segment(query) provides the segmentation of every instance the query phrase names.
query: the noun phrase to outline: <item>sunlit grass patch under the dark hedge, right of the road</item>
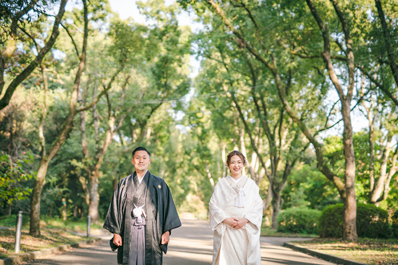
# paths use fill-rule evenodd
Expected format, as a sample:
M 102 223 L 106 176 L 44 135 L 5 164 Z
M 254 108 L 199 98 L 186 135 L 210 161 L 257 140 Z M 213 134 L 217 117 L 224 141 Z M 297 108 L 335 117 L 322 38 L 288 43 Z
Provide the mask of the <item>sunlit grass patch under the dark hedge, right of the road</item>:
M 357 242 L 314 238 L 294 244 L 370 265 L 398 265 L 398 239 L 360 238 Z

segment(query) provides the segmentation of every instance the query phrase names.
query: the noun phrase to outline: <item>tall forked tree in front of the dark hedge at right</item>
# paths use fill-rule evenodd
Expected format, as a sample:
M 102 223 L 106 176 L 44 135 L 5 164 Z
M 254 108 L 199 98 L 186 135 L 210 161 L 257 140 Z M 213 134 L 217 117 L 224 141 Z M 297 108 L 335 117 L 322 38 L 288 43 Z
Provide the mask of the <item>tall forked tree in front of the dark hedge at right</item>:
M 186 2 L 186 1 L 183 1 Z M 189 3 L 190 1 L 188 1 Z M 319 45 L 317 46 L 314 41 L 311 41 L 310 44 L 312 46 L 308 46 L 308 39 L 303 41 L 302 37 L 299 36 L 301 33 L 298 30 L 294 31 L 281 31 L 281 27 L 292 28 L 292 26 L 296 26 L 298 24 L 297 21 L 293 21 L 293 24 L 286 24 L 286 16 L 295 16 L 296 12 L 300 14 L 299 23 L 305 22 L 305 26 L 301 27 L 304 29 L 302 32 L 306 34 L 315 34 L 315 29 L 312 27 L 313 21 L 309 19 L 308 16 L 304 15 L 305 7 L 298 7 L 298 3 L 296 2 L 285 2 L 281 1 L 281 3 L 274 2 L 262 2 L 260 5 L 251 1 L 239 1 L 237 3 L 219 3 L 213 0 L 203 1 L 204 5 L 207 5 L 210 11 L 216 14 L 223 22 L 225 27 L 228 29 L 230 33 L 235 36 L 235 43 L 239 45 L 242 49 L 244 49 L 250 56 L 258 60 L 274 78 L 275 86 L 278 90 L 281 101 L 284 105 L 285 110 L 292 118 L 292 120 L 300 127 L 301 131 L 308 139 L 308 141 L 313 145 L 316 156 L 318 160 L 318 169 L 331 181 L 333 181 L 338 188 L 342 199 L 345 202 L 345 219 L 344 219 L 344 239 L 346 240 L 355 240 L 357 238 L 356 233 L 356 198 L 355 198 L 355 155 L 353 149 L 353 141 L 352 141 L 352 125 L 351 125 L 351 100 L 354 91 L 354 73 L 355 73 L 355 65 L 354 65 L 354 54 L 353 54 L 353 46 L 352 39 L 350 35 L 350 28 L 348 21 L 344 12 L 341 10 L 339 3 L 335 0 L 331 1 L 332 8 L 334 11 L 330 13 L 333 19 L 337 19 L 339 23 L 342 24 L 342 30 L 340 32 L 341 36 L 344 36 L 346 49 L 342 49 L 341 52 L 345 54 L 345 57 L 336 56 L 331 53 L 330 50 L 330 33 L 328 28 L 325 26 L 326 24 L 323 22 L 321 16 L 319 15 L 318 10 L 312 1 L 307 0 L 307 5 L 309 10 L 315 18 L 315 22 L 317 26 L 320 28 L 322 32 L 322 46 L 323 51 L 319 56 Z M 256 7 L 255 7 L 256 6 Z M 201 6 L 202 7 L 202 6 Z M 329 8 L 327 6 L 326 8 Z M 330 9 L 327 9 L 330 10 Z M 261 13 L 264 12 L 264 13 Z M 329 14 L 328 13 L 328 14 Z M 239 16 L 236 16 L 239 14 Z M 254 15 L 253 15 L 254 14 Z M 244 19 L 240 18 L 244 15 Z M 259 20 L 257 17 L 262 17 L 268 15 L 268 20 L 273 20 L 273 23 L 276 28 L 270 29 L 268 32 L 264 30 L 264 28 L 269 28 L 269 25 L 263 27 L 263 25 L 259 26 Z M 234 19 L 231 19 L 234 17 Z M 239 19 L 236 19 L 239 17 Z M 312 19 L 313 19 L 312 18 Z M 275 22 L 274 22 L 275 21 Z M 278 25 L 276 21 L 279 21 Z M 295 25 L 296 24 L 296 25 Z M 300 27 L 298 27 L 300 28 Z M 271 35 L 270 33 L 278 31 L 278 34 Z M 261 32 L 260 32 L 261 30 Z M 248 34 L 248 33 L 251 34 Z M 269 34 L 266 34 L 269 33 Z M 267 36 L 268 39 L 263 36 Z M 281 37 L 279 37 L 281 36 Z M 318 41 L 318 39 L 317 39 Z M 319 43 L 318 43 L 319 44 Z M 284 51 L 281 48 L 286 48 Z M 307 50 L 315 52 L 316 55 L 308 54 Z M 303 54 L 299 53 L 303 49 Z M 286 54 L 286 51 L 290 52 L 292 56 L 283 56 Z M 315 135 L 310 130 L 308 130 L 308 124 L 305 122 L 303 118 L 305 118 L 305 113 L 307 110 L 304 110 L 304 115 L 299 117 L 295 108 L 292 108 L 291 103 L 288 101 L 288 95 L 286 93 L 289 87 L 289 82 L 283 82 L 281 75 L 289 76 L 289 67 L 288 62 L 299 64 L 301 61 L 297 58 L 322 58 L 326 64 L 326 69 L 328 71 L 328 76 L 331 81 L 331 84 L 335 87 L 341 104 L 340 113 L 342 115 L 342 120 L 344 121 L 344 153 L 345 153 L 345 175 L 344 182 L 334 176 L 330 169 L 328 169 L 323 156 L 323 147 L 322 145 L 315 139 Z M 338 62 L 341 60 L 346 64 L 347 71 L 347 92 L 344 92 L 342 88 L 342 84 L 338 79 L 335 68 L 332 62 L 332 59 L 337 59 Z M 285 59 L 285 60 L 284 60 Z M 291 68 L 292 70 L 292 68 Z M 319 70 L 319 69 L 318 69 Z M 319 72 L 319 71 L 318 71 Z M 294 79 L 294 75 L 290 77 Z M 312 84 L 311 84 L 312 85 Z M 316 84 L 315 84 L 316 85 Z M 289 96 L 289 98 L 291 98 Z M 298 103 L 298 102 L 294 102 Z M 293 103 L 293 104 L 294 104 Z

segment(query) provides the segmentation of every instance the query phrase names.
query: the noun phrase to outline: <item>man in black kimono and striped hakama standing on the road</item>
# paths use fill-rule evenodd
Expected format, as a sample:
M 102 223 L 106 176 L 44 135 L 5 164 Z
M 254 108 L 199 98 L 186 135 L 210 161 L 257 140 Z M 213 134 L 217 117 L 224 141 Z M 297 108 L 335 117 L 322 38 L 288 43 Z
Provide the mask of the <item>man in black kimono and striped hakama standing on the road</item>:
M 151 154 L 133 151 L 135 172 L 120 180 L 113 192 L 103 228 L 113 233 L 119 265 L 162 265 L 171 230 L 181 226 L 166 182 L 148 171 Z

